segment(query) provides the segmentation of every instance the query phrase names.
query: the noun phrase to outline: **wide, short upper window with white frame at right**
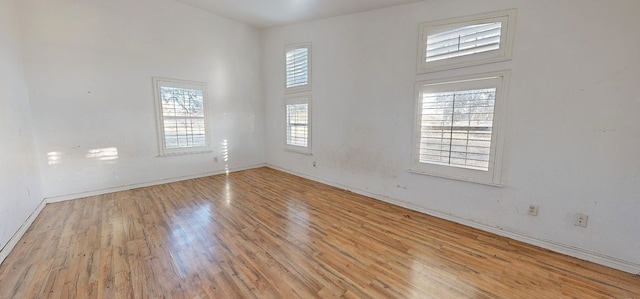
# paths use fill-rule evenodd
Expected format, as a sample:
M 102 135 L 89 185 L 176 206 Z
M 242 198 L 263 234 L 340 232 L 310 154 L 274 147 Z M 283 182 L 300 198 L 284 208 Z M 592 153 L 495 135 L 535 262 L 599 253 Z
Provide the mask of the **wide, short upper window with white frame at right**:
M 515 10 L 420 24 L 418 73 L 511 59 Z

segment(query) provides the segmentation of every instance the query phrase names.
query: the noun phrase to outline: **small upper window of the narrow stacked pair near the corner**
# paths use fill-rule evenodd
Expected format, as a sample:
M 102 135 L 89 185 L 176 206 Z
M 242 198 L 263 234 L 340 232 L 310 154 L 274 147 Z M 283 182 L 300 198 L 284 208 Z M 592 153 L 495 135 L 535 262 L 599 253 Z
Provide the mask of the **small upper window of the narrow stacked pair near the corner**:
M 311 44 L 287 46 L 286 58 L 286 91 L 299 92 L 311 90 Z

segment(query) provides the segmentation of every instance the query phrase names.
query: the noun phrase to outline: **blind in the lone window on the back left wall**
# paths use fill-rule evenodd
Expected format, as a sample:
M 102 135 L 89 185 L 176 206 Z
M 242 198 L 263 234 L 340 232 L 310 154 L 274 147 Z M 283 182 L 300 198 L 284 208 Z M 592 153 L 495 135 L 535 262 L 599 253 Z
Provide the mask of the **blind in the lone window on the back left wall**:
M 165 148 L 206 146 L 202 90 L 160 87 Z

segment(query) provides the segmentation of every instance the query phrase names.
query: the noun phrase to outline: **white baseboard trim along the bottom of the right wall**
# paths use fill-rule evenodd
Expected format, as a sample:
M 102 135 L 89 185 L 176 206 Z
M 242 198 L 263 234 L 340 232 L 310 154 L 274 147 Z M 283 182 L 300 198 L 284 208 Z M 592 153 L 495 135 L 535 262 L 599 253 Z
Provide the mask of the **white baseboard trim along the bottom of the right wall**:
M 323 184 L 327 184 L 329 186 L 333 186 L 336 188 L 340 188 L 340 189 L 344 189 L 347 191 L 351 191 L 353 193 L 357 193 L 360 195 L 364 195 L 367 197 L 371 197 L 380 201 L 384 201 L 390 204 L 394 204 L 397 206 L 401 206 L 403 208 L 407 208 L 410 210 L 414 210 L 414 211 L 418 211 L 430 216 L 434 216 L 440 219 L 444 219 L 444 220 L 448 220 L 448 221 L 452 221 L 455 223 L 459 223 L 465 226 L 469 226 L 469 227 L 473 227 L 482 231 L 486 231 L 486 232 L 490 232 L 499 236 L 503 236 L 503 237 L 507 237 L 510 239 L 514 239 L 517 241 L 521 241 L 527 244 L 531 244 L 531 245 L 535 245 L 535 246 L 539 246 L 560 254 L 564 254 L 564 255 L 568 255 L 571 257 L 575 257 L 581 260 L 586 260 L 589 262 L 593 262 L 596 264 L 600 264 L 609 268 L 613 268 L 613 269 L 617 269 L 617 270 L 621 270 L 627 273 L 631 273 L 631 274 L 636 274 L 636 275 L 640 275 L 640 264 L 631 262 L 631 261 L 626 261 L 626 260 L 621 260 L 618 258 L 614 258 L 614 257 L 610 257 L 610 256 L 606 256 L 600 253 L 596 253 L 596 252 L 591 252 L 588 250 L 584 250 L 584 249 L 580 249 L 577 247 L 573 247 L 573 246 L 569 246 L 566 244 L 562 244 L 556 241 L 551 241 L 551 240 L 542 240 L 542 239 L 537 239 L 537 238 L 533 238 L 533 237 L 529 237 L 526 235 L 522 235 L 519 233 L 515 233 L 515 232 L 510 232 L 510 231 L 506 231 L 504 229 L 498 228 L 498 227 L 493 227 L 493 226 L 489 226 L 486 224 L 482 224 L 482 223 L 478 223 L 475 221 L 471 221 L 471 220 L 467 220 L 464 218 L 460 218 L 460 217 L 456 217 L 441 211 L 436 211 L 436 210 L 431 210 L 425 207 L 421 207 L 409 202 L 405 202 L 405 201 L 401 201 L 395 198 L 391 198 L 385 195 L 380 195 L 380 194 L 376 194 L 376 193 L 372 193 L 369 191 L 364 191 L 358 188 L 352 188 L 350 186 L 346 186 L 340 183 L 336 183 L 336 182 L 331 182 L 331 181 L 327 181 L 325 179 L 322 178 L 318 178 L 318 177 L 314 177 L 314 176 L 310 176 L 310 175 L 306 175 L 306 174 L 302 174 L 293 170 L 289 170 L 289 169 L 284 169 L 282 167 L 278 167 L 275 165 L 271 165 L 268 164 L 266 165 L 267 167 L 273 168 L 273 169 L 277 169 L 286 173 L 290 173 L 293 174 L 295 176 L 299 176 L 299 177 L 303 177 L 306 179 L 310 179 L 312 181 L 316 181 L 316 182 L 320 182 Z

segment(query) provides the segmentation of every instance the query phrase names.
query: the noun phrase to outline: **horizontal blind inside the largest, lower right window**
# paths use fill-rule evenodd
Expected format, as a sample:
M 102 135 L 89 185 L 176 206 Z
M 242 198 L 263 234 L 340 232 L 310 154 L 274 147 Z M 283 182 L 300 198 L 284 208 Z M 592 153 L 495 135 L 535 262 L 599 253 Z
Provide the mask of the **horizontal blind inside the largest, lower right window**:
M 488 170 L 496 88 L 421 94 L 419 162 Z

